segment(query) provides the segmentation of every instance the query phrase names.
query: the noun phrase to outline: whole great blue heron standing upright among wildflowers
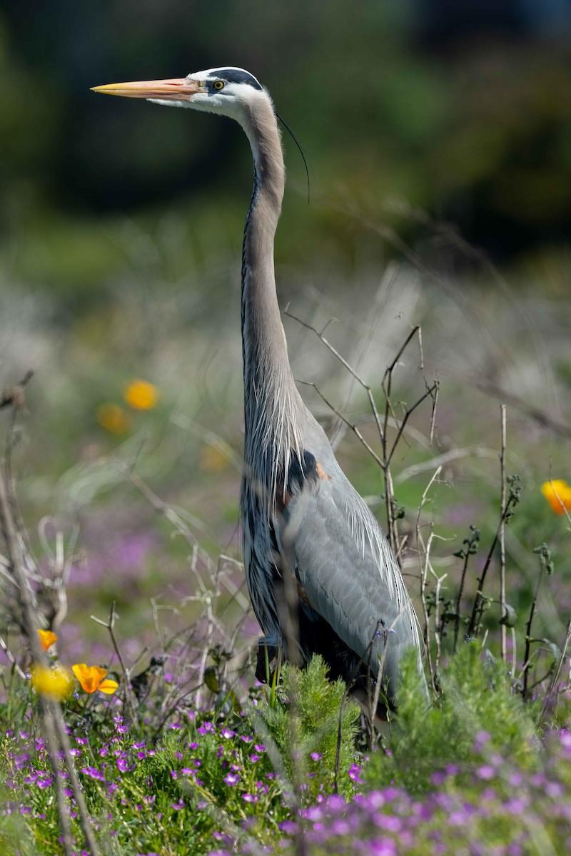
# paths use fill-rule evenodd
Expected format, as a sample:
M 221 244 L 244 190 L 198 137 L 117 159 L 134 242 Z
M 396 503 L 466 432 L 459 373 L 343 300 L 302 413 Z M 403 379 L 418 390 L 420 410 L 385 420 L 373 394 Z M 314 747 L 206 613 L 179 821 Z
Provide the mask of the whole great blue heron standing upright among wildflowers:
M 247 586 L 265 633 L 260 641 L 297 662 L 321 654 L 332 678 L 356 681 L 361 690 L 382 667 L 392 704 L 409 647 L 417 651 L 425 686 L 416 617 L 378 521 L 342 473 L 289 366 L 273 258 L 285 174 L 270 95 L 242 68 L 114 83 L 95 92 L 230 116 L 247 134 L 254 180 L 241 269 L 241 520 Z M 288 633 L 292 615 L 295 641 Z

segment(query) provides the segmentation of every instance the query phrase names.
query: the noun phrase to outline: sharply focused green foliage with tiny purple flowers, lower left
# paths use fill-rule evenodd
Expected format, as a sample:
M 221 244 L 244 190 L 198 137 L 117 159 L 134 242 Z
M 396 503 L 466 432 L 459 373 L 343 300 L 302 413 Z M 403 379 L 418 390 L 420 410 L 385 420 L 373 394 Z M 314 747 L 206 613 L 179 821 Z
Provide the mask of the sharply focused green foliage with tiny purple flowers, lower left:
M 325 671 L 320 658 L 305 671 L 283 669 L 273 703 L 262 693 L 249 711 L 227 717 L 214 710 L 175 713 L 159 734 L 146 725 L 145 709 L 128 724 L 115 700 L 82 715 L 70 698 L 65 710 L 75 764 L 87 810 L 101 840 L 111 842 L 110 853 L 207 853 L 216 836 L 241 841 L 244 823 L 247 835 L 270 841 L 291 819 L 295 802 L 312 805 L 330 794 L 344 685 L 327 681 Z M 51 765 L 29 693 L 26 682 L 13 679 L 0 704 L 0 779 L 9 806 L 0 841 L 9 853 L 25 823 L 38 847 L 60 853 Z M 348 769 L 355 721 L 355 706 L 346 700 L 338 789 L 347 797 L 354 794 Z M 72 825 L 80 841 L 76 817 Z M 22 853 L 35 853 L 32 837 Z

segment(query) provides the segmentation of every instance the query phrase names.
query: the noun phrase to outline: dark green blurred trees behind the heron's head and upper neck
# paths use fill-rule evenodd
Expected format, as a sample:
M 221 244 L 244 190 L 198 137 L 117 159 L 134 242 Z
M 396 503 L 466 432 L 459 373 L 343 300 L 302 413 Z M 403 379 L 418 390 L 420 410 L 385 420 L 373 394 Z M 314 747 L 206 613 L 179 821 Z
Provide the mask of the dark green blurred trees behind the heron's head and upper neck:
M 200 218 L 203 253 L 235 250 L 251 172 L 240 129 L 88 91 L 230 64 L 268 86 L 312 170 L 316 204 L 301 216 L 305 177 L 286 139 L 283 261 L 354 263 L 355 236 L 322 194 L 375 214 L 407 199 L 502 262 L 558 247 L 571 217 L 570 30 L 565 0 L 8 4 L 3 263 L 80 303 L 122 269 L 117 217 L 179 211 Z

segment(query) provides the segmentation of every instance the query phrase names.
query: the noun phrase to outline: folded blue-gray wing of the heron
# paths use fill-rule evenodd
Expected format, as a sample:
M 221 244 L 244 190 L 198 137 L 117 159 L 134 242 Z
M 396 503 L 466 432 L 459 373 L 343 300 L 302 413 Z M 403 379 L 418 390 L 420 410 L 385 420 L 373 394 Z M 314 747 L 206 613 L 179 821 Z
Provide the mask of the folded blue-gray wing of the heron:
M 394 687 L 403 652 L 411 646 L 420 651 L 413 605 L 377 520 L 342 473 L 317 423 L 307 439 L 317 473 L 301 484 L 284 512 L 284 556 L 310 607 L 375 674 L 383 662 Z

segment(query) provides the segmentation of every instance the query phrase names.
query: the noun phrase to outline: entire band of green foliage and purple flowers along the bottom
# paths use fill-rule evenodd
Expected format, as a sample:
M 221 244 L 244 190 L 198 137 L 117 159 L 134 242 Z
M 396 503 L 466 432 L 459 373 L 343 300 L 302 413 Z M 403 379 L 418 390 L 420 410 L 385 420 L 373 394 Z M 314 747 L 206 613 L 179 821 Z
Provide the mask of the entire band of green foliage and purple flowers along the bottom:
M 298 834 L 311 856 L 344 856 L 355 839 L 369 847 L 364 853 L 382 845 L 381 853 L 408 856 L 436 843 L 443 856 L 504 852 L 514 841 L 516 853 L 567 853 L 568 731 L 545 732 L 540 742 L 509 676 L 474 643 L 440 681 L 443 694 L 426 709 L 414 658 L 405 664 L 390 751 L 364 761 L 365 788 L 354 763 L 356 709 L 343 703 L 339 794 L 332 792 L 344 687 L 326 680 L 319 657 L 303 671 L 284 668 L 275 694 L 253 690 L 248 710 L 177 710 L 158 734 L 145 708 L 128 724 L 116 699 L 94 705 L 88 718 L 70 700 L 74 764 L 102 853 L 205 856 L 261 846 L 291 856 Z M 27 682 L 13 675 L 4 686 L 2 853 L 62 856 L 39 711 L 29 705 Z M 153 693 L 160 703 L 160 687 Z M 79 852 L 73 800 L 71 811 Z

